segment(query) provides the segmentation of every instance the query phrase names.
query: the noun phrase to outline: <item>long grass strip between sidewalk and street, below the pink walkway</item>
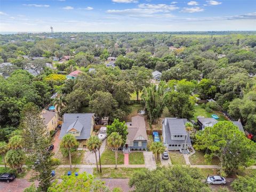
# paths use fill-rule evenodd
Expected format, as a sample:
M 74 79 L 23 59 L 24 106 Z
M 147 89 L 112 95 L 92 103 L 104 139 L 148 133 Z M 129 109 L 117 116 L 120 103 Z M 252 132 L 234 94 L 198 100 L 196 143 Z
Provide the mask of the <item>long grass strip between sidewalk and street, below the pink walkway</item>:
M 98 178 L 130 178 L 133 173 L 144 170 L 145 168 L 102 168 L 99 173 L 96 168 L 93 169 L 93 175 Z

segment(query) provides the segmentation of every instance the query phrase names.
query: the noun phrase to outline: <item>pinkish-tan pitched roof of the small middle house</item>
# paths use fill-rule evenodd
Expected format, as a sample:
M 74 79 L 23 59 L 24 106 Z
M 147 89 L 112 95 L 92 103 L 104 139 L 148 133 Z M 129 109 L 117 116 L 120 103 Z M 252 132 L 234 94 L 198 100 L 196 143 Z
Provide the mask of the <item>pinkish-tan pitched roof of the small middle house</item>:
M 132 117 L 131 124 L 127 124 L 128 126 L 128 135 L 126 142 L 134 141 L 134 140 L 146 140 L 148 141 L 147 131 L 146 131 L 146 123 L 144 117 L 139 115 Z M 139 137 L 142 137 L 141 139 Z

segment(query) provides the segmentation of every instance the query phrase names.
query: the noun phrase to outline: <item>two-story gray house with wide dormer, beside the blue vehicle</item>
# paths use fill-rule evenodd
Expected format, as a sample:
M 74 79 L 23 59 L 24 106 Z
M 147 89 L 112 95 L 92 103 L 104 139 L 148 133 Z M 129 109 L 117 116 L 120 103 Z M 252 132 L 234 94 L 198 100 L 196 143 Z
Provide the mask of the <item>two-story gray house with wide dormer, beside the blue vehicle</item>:
M 181 153 L 189 153 L 191 147 L 189 134 L 186 132 L 186 118 L 164 118 L 163 143 L 168 150 L 179 150 Z

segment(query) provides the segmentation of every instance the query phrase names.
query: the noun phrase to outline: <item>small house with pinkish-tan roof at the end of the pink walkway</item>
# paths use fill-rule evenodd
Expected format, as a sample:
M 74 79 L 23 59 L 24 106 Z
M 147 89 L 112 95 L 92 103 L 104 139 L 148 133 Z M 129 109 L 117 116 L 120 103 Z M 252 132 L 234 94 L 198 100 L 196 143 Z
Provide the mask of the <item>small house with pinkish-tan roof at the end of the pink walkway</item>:
M 128 134 L 123 147 L 124 153 L 129 153 L 131 150 L 147 150 L 148 136 L 144 117 L 134 116 L 132 122 L 126 124 Z

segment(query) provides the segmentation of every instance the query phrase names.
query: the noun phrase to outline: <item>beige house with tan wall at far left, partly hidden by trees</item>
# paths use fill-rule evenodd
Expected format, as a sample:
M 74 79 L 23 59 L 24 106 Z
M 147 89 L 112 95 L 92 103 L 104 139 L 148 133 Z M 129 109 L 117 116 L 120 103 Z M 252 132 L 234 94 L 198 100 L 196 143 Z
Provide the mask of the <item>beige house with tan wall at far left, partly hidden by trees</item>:
M 50 131 L 55 130 L 58 125 L 58 114 L 55 113 L 54 111 L 49 111 L 46 109 L 43 109 L 41 114 L 49 133 Z

